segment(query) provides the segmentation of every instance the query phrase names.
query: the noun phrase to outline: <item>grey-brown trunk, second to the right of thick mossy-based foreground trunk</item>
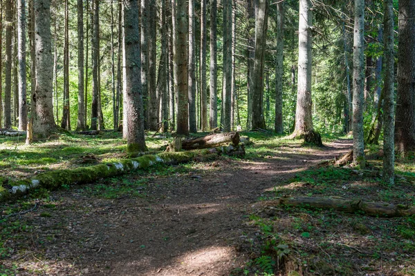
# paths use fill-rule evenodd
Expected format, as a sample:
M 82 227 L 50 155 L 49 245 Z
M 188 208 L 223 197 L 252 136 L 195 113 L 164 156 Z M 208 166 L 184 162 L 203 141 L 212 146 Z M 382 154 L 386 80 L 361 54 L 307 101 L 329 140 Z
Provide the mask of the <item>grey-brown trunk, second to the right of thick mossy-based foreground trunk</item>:
M 158 130 L 158 101 L 156 92 L 156 0 L 149 0 L 148 8 L 148 51 L 149 51 L 149 63 L 148 63 L 148 76 L 149 76 L 149 129 Z

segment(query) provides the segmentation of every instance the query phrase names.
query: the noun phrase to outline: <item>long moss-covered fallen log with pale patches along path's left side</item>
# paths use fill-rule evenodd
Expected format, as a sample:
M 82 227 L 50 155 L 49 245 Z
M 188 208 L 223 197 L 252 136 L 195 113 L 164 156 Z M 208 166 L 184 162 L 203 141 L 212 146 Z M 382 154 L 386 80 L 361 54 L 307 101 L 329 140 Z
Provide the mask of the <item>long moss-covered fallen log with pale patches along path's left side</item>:
M 36 175 L 30 179 L 12 183 L 9 182 L 5 185 L 7 187 L 0 186 L 0 202 L 16 199 L 22 195 L 26 195 L 30 192 L 30 190 L 38 187 L 54 190 L 64 185 L 91 183 L 101 178 L 122 175 L 133 170 L 148 168 L 156 163 L 180 164 L 203 155 L 232 155 L 234 152 L 239 152 L 239 155 L 242 155 L 245 150 L 242 146 L 221 146 L 209 150 L 162 152 L 158 155 L 144 155 L 137 158 L 120 159 L 118 161 L 98 164 L 95 166 L 65 170 L 51 170 L 49 172 Z

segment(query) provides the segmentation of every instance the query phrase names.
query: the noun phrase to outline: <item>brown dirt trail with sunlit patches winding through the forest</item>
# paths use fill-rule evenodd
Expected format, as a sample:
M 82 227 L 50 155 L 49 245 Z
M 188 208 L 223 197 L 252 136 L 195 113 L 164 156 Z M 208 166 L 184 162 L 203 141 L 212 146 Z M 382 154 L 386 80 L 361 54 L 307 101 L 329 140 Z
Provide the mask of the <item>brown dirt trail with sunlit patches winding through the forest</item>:
M 236 248 L 252 231 L 243 222 L 258 197 L 350 148 L 339 140 L 322 150 L 277 148 L 257 161 L 202 163 L 191 173 L 153 177 L 148 199 L 61 190 L 52 217 L 37 217 L 35 239 L 58 237 L 42 244 L 47 259 L 59 260 L 48 264 L 57 275 L 229 275 L 249 259 Z

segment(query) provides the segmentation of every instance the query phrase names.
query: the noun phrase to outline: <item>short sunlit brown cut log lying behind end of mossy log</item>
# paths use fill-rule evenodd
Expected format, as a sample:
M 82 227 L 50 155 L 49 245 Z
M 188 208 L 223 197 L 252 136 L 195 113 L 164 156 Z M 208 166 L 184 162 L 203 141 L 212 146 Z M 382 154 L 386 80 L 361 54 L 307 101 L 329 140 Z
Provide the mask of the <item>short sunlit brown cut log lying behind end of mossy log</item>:
M 183 150 L 196 150 L 201 148 L 213 148 L 225 143 L 232 143 L 234 146 L 238 146 L 239 132 L 225 132 L 183 140 L 182 148 Z

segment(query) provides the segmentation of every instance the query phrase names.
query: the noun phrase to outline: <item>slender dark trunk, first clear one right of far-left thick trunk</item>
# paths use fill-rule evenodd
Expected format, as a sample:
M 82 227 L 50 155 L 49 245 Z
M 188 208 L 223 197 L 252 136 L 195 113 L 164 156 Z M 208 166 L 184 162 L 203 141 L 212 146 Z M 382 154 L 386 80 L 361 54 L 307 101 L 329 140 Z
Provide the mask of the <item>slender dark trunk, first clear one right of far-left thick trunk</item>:
M 64 110 L 62 128 L 71 130 L 71 115 L 69 114 L 69 12 L 68 0 L 65 0 L 65 41 L 64 41 Z

